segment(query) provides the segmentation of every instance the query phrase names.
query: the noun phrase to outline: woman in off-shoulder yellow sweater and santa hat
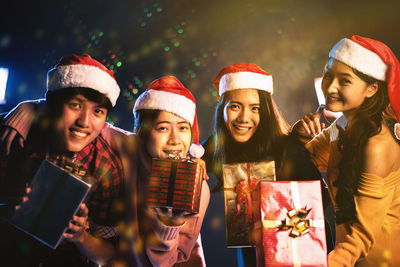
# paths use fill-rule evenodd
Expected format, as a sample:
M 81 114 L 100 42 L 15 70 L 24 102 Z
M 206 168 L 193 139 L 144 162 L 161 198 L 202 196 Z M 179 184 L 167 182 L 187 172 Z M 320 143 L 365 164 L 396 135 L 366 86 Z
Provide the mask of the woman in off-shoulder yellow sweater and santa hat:
M 400 266 L 399 61 L 382 42 L 344 38 L 329 53 L 322 89 L 326 108 L 342 111 L 347 121 L 338 119 L 306 144 L 327 173 L 335 206 L 336 247 L 328 264 Z M 321 127 L 319 116 L 305 116 L 303 127 Z

